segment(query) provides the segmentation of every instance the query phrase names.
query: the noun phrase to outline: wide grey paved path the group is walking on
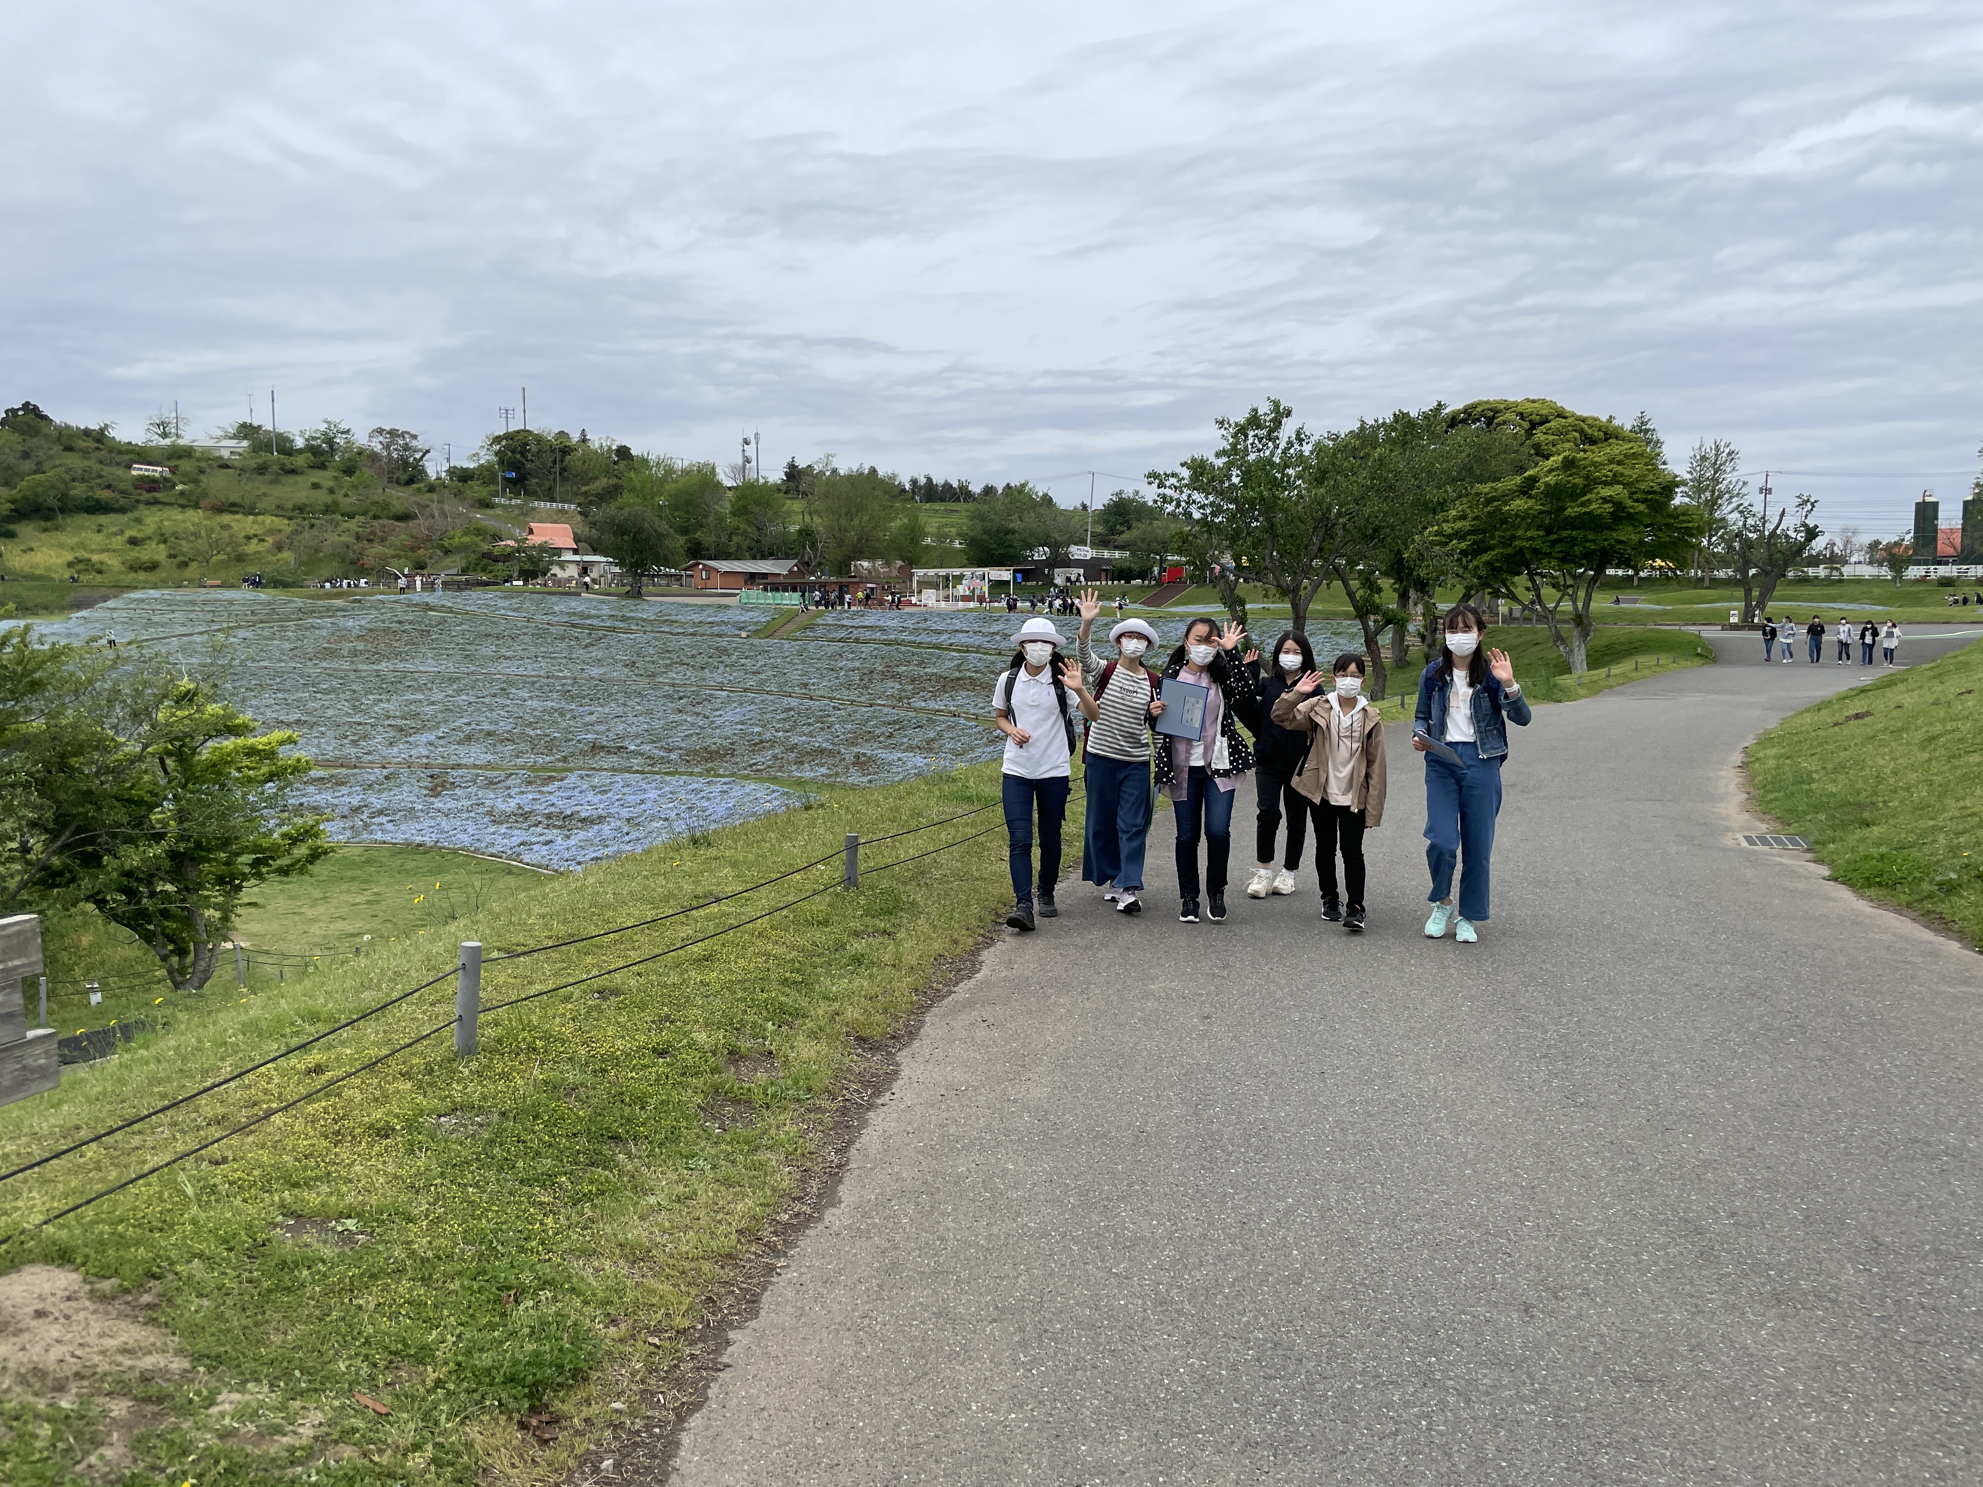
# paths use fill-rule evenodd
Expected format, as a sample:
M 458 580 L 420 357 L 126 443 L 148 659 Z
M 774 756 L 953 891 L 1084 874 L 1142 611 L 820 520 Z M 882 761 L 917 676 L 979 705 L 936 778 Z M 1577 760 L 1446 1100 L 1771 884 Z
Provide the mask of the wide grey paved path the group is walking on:
M 1396 757 L 1362 940 L 1313 878 L 1069 886 L 932 1011 L 674 1481 L 1983 1479 L 1983 962 L 1731 845 L 1741 745 L 1862 678 L 1753 650 L 1515 730 L 1475 948 L 1420 936 Z

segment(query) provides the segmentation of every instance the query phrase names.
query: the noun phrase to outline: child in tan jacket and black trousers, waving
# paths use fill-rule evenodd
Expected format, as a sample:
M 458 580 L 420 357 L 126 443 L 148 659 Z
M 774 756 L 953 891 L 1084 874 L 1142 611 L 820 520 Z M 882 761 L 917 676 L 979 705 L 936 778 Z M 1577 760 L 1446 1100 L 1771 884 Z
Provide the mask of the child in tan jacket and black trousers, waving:
M 1364 658 L 1337 656 L 1333 684 L 1305 672 L 1273 704 L 1275 724 L 1299 726 L 1309 740 L 1295 789 L 1315 801 L 1315 872 L 1323 884 L 1323 918 L 1344 930 L 1364 926 L 1362 835 L 1384 821 L 1384 722 L 1362 696 Z M 1337 892 L 1337 843 L 1342 843 L 1342 894 Z

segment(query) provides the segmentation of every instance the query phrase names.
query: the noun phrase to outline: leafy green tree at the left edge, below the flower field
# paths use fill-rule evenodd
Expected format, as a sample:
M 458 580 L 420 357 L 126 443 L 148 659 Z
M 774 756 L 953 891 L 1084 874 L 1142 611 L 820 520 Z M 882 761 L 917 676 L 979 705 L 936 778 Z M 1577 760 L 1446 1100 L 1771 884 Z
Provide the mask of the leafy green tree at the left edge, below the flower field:
M 307 872 L 325 817 L 293 809 L 309 759 L 163 660 L 0 642 L 0 783 L 14 902 L 89 904 L 175 989 L 214 973 L 246 894 Z

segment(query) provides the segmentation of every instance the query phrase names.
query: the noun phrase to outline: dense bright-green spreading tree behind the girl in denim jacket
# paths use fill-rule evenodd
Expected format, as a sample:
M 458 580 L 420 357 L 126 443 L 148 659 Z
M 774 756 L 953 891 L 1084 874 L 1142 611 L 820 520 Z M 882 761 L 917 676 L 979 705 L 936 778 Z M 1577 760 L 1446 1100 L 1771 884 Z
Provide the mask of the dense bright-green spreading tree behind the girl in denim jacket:
M 1465 553 L 1483 589 L 1533 607 L 1580 676 L 1598 583 L 1684 559 L 1705 535 L 1699 512 L 1674 500 L 1680 480 L 1646 440 L 1610 418 L 1547 399 L 1487 399 L 1448 418 L 1519 438 L 1535 462 L 1469 490 L 1432 539 Z

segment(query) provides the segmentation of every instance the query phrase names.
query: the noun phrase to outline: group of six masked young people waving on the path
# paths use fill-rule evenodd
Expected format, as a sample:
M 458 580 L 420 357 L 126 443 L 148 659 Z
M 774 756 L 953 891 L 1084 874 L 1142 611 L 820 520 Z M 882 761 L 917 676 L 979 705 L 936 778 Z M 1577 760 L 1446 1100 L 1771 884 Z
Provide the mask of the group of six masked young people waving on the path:
M 1313 827 L 1323 918 L 1362 930 L 1362 839 L 1382 823 L 1386 793 L 1382 700 L 1364 696 L 1364 656 L 1346 650 L 1325 672 L 1309 636 L 1287 630 L 1263 664 L 1257 648 L 1241 650 L 1237 625 L 1192 619 L 1168 658 L 1152 664 L 1160 640 L 1148 621 L 1116 623 L 1108 632 L 1114 654 L 1105 656 L 1093 642 L 1095 593 L 1083 593 L 1077 609 L 1075 654 L 1065 654 L 1051 619 L 1029 619 L 1013 634 L 1015 654 L 992 694 L 1005 734 L 1013 886 L 1005 922 L 1033 930 L 1059 914 L 1061 833 L 1079 753 L 1087 797 L 1081 878 L 1118 914 L 1142 912 L 1150 821 L 1162 791 L 1176 825 L 1178 918 L 1216 924 L 1227 916 L 1233 807 L 1251 773 L 1255 870 L 1245 894 L 1295 892 Z M 1444 629 L 1438 656 L 1418 678 L 1412 722 L 1412 747 L 1426 755 L 1426 934 L 1440 938 L 1452 928 L 1467 944 L 1489 910 L 1507 724 L 1527 726 L 1531 712 L 1507 654 L 1481 648 L 1487 625 L 1477 609 L 1456 605 Z M 1204 698 L 1172 688 L 1166 702 L 1166 680 L 1202 688 Z M 1194 704 L 1184 716 L 1202 702 L 1204 718 L 1190 738 L 1158 726 L 1172 702 Z

